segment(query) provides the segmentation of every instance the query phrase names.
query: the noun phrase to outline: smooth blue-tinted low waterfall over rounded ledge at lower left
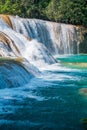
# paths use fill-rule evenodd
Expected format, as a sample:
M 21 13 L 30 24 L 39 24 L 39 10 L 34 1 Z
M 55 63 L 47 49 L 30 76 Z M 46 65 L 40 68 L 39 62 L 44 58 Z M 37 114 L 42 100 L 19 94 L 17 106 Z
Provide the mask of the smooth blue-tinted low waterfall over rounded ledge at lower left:
M 34 76 L 16 61 L 0 62 L 0 89 L 25 85 L 32 77 Z

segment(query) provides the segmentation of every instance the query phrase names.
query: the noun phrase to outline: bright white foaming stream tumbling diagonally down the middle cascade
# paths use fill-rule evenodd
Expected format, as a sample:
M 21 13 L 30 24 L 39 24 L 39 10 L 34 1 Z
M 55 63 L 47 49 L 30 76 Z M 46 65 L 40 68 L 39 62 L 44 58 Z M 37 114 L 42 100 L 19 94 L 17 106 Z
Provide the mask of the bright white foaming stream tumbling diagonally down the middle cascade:
M 36 66 L 38 65 L 39 67 L 43 64 L 55 63 L 55 60 L 42 43 L 39 43 L 36 40 L 29 41 L 23 35 L 10 29 L 4 29 L 2 32 L 9 36 L 12 41 L 14 41 L 10 42 L 10 47 L 16 56 L 22 56 L 32 64 Z M 14 45 L 19 51 L 16 50 Z

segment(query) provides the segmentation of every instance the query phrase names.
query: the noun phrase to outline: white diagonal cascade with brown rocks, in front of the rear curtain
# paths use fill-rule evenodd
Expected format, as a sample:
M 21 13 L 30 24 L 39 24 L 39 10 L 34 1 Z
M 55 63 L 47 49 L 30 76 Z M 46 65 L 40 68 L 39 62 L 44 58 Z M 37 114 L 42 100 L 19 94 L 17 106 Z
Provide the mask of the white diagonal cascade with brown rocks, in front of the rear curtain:
M 44 44 L 14 31 L 2 19 L 0 19 L 0 25 L 1 56 L 23 57 L 37 68 L 55 63 L 54 58 Z

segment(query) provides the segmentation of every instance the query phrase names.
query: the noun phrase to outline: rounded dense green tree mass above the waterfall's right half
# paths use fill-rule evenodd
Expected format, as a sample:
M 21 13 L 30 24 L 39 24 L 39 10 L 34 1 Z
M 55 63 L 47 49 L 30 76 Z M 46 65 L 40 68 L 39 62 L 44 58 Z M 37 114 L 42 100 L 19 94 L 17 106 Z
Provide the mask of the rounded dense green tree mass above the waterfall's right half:
M 51 0 L 46 15 L 49 20 L 87 26 L 87 0 Z

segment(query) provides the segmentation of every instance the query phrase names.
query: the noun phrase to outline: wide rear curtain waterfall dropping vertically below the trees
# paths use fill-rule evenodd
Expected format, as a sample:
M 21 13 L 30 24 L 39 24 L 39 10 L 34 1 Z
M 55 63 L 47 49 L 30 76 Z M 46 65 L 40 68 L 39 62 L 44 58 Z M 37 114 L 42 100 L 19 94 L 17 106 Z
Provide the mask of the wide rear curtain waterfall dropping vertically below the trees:
M 10 17 L 13 29 L 43 43 L 53 54 L 74 54 L 78 48 L 78 31 L 75 26 L 38 19 Z

